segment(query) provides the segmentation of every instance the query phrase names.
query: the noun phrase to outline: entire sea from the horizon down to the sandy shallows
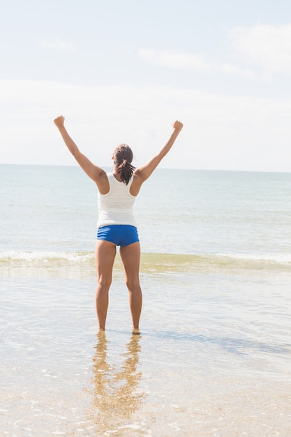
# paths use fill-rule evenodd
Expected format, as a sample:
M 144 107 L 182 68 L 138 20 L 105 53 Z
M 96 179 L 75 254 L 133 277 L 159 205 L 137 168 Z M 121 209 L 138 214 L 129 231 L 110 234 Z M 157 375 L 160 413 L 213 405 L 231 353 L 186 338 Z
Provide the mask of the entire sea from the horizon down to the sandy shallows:
M 144 297 L 95 311 L 97 190 L 0 165 L 0 435 L 291 436 L 291 174 L 158 169 L 135 202 Z

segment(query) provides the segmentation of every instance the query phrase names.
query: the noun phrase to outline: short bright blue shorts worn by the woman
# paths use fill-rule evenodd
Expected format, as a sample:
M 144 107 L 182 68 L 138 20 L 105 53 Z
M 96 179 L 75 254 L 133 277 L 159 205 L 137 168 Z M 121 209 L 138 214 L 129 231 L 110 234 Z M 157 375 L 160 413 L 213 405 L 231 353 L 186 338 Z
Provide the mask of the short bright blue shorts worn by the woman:
M 112 242 L 116 246 L 129 246 L 139 242 L 137 228 L 132 225 L 108 225 L 101 226 L 97 232 L 97 239 L 103 239 L 105 242 Z

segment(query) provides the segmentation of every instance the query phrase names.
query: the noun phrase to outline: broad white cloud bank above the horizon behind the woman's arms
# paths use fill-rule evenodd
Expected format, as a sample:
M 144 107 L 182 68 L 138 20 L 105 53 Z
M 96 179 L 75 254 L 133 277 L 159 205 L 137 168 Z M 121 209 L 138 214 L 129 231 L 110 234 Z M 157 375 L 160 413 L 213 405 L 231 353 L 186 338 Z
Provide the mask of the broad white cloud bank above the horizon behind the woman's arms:
M 171 87 L 81 86 L 0 80 L 0 161 L 74 165 L 52 120 L 66 126 L 97 165 L 120 142 L 142 165 L 181 119 L 179 142 L 161 167 L 291 171 L 291 101 Z

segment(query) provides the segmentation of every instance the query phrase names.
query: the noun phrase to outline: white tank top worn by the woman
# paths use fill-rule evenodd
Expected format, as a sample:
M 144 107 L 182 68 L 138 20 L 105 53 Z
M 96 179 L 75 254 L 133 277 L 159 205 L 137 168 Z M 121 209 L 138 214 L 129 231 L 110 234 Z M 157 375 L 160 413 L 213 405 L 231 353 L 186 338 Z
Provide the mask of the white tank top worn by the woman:
M 107 178 L 109 192 L 107 194 L 98 192 L 98 228 L 106 225 L 136 226 L 133 215 L 133 204 L 136 196 L 129 192 L 133 177 L 128 185 L 117 181 L 112 173 L 107 173 Z

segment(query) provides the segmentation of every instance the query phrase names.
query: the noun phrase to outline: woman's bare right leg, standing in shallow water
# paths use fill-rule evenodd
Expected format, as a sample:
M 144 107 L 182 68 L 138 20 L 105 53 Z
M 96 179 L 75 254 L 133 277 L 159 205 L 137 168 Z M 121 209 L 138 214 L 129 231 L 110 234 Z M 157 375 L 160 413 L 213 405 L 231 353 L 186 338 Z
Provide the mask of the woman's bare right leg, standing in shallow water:
M 129 293 L 129 305 L 133 329 L 139 328 L 142 312 L 142 290 L 140 288 L 140 243 L 129 244 L 120 248 L 120 256 L 124 265 L 124 275 Z

